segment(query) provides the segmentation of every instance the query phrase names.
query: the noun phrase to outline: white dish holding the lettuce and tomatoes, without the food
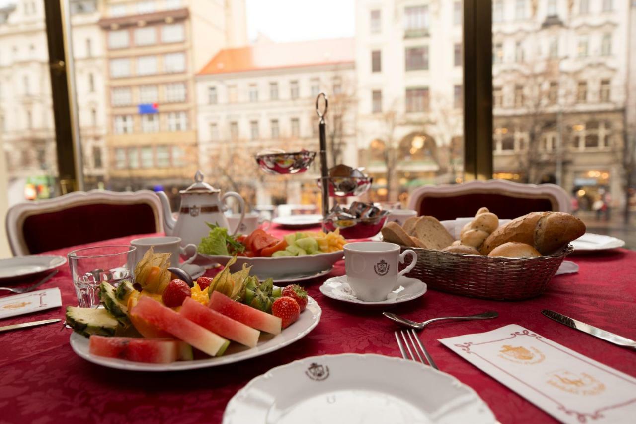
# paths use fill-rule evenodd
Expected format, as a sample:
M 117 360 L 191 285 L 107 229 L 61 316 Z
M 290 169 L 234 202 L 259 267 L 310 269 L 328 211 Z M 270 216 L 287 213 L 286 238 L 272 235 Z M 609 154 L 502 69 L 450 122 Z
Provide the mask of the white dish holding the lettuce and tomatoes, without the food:
M 238 272 L 243 269 L 243 264 L 247 264 L 248 267 L 252 267 L 249 274 L 258 277 L 258 279 L 273 278 L 275 281 L 283 281 L 297 278 L 298 276 L 314 276 L 319 272 L 329 271 L 343 256 L 343 250 L 320 253 L 319 255 L 281 256 L 277 258 L 247 258 L 239 256 L 237 261 L 230 267 L 230 271 Z M 198 257 L 210 262 L 218 262 L 221 265 L 227 264 L 232 259 L 231 256 L 213 256 L 204 255 L 203 253 L 199 253 Z

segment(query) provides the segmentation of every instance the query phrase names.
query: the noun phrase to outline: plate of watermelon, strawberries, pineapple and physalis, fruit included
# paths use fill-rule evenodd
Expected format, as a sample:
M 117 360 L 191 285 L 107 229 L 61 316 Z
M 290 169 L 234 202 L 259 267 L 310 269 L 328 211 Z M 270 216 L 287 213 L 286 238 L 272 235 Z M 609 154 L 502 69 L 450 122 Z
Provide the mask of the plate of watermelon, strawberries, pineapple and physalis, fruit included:
M 321 307 L 298 285 L 261 281 L 232 261 L 192 287 L 172 279 L 170 253 L 148 250 L 135 283 L 100 284 L 100 307 L 66 309 L 71 348 L 90 362 L 134 371 L 231 364 L 278 350 L 307 335 Z

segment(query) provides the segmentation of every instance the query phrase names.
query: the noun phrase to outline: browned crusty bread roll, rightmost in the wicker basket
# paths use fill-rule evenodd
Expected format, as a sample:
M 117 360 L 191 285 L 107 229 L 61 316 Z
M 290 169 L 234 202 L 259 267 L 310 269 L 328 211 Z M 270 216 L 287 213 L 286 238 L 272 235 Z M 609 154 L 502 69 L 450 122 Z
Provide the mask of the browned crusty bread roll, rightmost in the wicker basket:
M 565 212 L 542 216 L 534 227 L 534 247 L 543 255 L 550 255 L 570 241 L 585 234 L 583 221 Z

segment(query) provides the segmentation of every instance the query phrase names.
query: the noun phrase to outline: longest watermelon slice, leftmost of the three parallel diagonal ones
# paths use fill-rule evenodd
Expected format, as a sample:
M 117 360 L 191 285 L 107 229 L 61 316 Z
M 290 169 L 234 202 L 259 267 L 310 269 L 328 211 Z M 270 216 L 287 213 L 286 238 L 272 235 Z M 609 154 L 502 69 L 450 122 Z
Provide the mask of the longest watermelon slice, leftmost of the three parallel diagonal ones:
M 142 296 L 130 313 L 155 325 L 172 336 L 191 344 L 211 357 L 221 356 L 229 341 L 179 315 L 154 299 Z

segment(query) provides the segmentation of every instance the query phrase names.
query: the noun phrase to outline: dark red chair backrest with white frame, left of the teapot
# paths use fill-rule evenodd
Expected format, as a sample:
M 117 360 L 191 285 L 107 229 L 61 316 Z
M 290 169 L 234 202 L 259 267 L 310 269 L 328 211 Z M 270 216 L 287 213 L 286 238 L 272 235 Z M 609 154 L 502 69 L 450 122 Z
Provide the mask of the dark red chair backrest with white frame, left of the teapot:
M 6 232 L 15 256 L 162 231 L 162 205 L 149 190 L 73 192 L 19 203 L 6 215 Z

